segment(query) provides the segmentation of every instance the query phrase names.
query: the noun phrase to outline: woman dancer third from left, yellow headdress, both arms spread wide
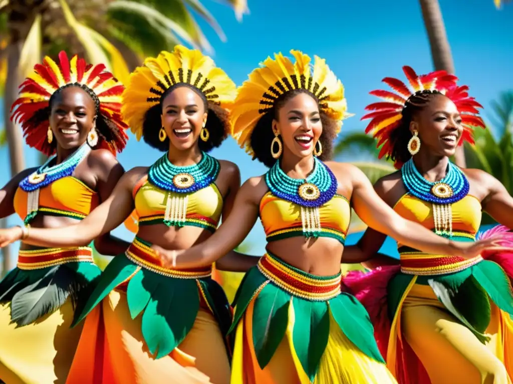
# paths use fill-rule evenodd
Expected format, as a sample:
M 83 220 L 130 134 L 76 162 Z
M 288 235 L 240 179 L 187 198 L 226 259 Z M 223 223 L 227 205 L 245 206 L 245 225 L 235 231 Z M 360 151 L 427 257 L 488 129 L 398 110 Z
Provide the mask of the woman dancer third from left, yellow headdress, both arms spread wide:
M 260 215 L 268 252 L 235 298 L 232 383 L 390 383 L 372 325 L 341 292 L 350 203 L 373 228 L 425 251 L 473 257 L 480 245 L 440 239 L 389 208 L 359 169 L 329 159 L 347 116 L 340 80 L 291 51 L 264 61 L 238 92 L 233 135 L 269 172 L 249 179 L 218 232 L 186 251 L 153 248 L 170 267 L 201 268 L 244 239 Z

